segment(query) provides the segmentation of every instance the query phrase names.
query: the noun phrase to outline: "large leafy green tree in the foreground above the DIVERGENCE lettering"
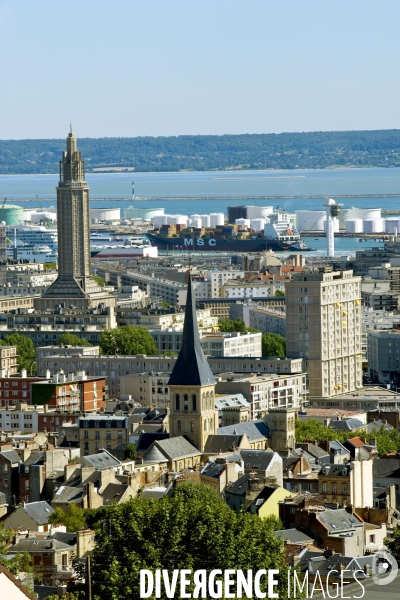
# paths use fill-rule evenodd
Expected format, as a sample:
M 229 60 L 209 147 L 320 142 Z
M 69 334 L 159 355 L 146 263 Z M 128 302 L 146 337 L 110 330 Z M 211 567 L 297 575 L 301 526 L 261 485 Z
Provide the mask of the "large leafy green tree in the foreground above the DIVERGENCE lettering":
M 283 545 L 270 524 L 256 515 L 236 514 L 208 486 L 187 482 L 172 497 L 135 498 L 96 513 L 93 592 L 102 600 L 139 599 L 141 568 L 169 573 L 278 569 L 276 591 L 281 598 L 287 596 Z

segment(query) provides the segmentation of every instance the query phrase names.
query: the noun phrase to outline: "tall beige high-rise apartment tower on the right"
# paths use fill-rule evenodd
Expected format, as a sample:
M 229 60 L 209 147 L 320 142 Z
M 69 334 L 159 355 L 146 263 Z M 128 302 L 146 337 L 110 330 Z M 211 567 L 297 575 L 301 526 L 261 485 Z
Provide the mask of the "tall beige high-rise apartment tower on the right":
M 361 319 L 353 271 L 296 274 L 286 284 L 287 354 L 304 358 L 310 397 L 362 387 Z

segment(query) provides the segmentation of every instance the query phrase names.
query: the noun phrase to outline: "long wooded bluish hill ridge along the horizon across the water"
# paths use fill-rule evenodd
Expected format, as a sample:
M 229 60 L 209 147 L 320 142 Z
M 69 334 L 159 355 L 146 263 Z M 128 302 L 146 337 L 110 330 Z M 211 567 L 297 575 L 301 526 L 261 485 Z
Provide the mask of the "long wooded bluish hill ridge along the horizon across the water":
M 400 130 L 82 138 L 86 170 L 399 167 Z M 65 140 L 0 140 L 0 173 L 57 173 Z

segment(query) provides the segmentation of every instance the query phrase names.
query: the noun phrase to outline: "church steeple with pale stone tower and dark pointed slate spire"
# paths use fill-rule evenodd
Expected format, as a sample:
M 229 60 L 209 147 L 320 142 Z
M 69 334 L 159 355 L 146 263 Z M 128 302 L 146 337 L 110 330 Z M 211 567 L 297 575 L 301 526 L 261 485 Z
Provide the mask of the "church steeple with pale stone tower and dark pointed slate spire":
M 186 436 L 203 452 L 217 428 L 215 378 L 200 345 L 192 277 L 189 274 L 182 347 L 169 378 L 171 437 Z

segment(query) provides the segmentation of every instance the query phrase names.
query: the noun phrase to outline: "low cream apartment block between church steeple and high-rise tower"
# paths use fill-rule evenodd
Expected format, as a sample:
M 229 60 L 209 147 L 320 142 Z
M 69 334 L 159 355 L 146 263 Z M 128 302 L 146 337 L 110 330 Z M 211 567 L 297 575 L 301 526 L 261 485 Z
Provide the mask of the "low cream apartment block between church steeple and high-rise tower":
M 224 373 L 217 378 L 217 394 L 243 394 L 250 404 L 251 419 L 258 419 L 272 409 L 301 409 L 306 399 L 306 376 L 235 375 Z

